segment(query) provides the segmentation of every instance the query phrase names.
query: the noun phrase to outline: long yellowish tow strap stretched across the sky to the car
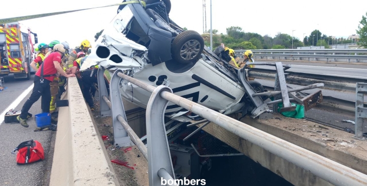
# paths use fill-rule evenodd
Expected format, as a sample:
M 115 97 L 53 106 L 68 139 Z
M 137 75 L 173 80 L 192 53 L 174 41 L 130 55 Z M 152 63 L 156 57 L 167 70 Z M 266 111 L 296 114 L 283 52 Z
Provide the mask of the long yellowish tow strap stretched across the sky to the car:
M 111 4 L 111 5 L 99 6 L 99 7 L 93 7 L 93 8 L 84 8 L 84 9 L 78 9 L 78 10 L 69 10 L 69 11 L 53 12 L 53 13 L 46 13 L 46 14 L 36 14 L 36 15 L 31 15 L 31 16 L 21 16 L 21 17 L 14 17 L 14 18 L 5 18 L 5 19 L 0 19 L 0 24 L 13 23 L 13 22 L 19 22 L 19 21 L 30 20 L 30 19 L 35 19 L 35 18 L 43 18 L 47 16 L 66 14 L 70 12 L 77 12 L 77 11 L 82 11 L 82 10 L 90 10 L 90 9 L 95 9 L 95 8 L 104 8 L 104 7 L 118 6 L 118 5 L 124 5 L 124 4 L 132 4 L 132 3 L 140 3 L 141 5 L 143 5 L 143 7 L 146 6 L 145 1 L 143 0 L 131 0 L 127 2 L 121 2 L 117 4 Z

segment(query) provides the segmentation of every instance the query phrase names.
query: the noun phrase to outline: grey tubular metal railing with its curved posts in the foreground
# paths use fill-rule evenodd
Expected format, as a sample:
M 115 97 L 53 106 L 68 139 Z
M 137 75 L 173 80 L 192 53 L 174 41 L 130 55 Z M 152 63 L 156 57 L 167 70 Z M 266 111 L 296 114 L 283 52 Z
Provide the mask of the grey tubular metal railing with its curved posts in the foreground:
M 100 114 L 101 116 L 112 115 L 115 145 L 132 145 L 131 140 L 133 140 L 138 149 L 143 153 L 148 161 L 149 186 L 159 186 L 161 184 L 160 178 L 166 180 L 175 179 L 163 120 L 168 101 L 202 116 L 207 121 L 221 126 L 240 138 L 248 140 L 306 171 L 310 171 L 331 184 L 336 186 L 367 185 L 367 175 L 361 172 L 173 94 L 169 87 L 154 87 L 145 84 L 124 74 L 121 70 L 116 70 L 112 76 L 110 82 L 111 94 L 110 99 L 108 99 L 103 72 L 103 68 L 100 68 L 98 71 L 99 96 L 101 100 Z M 146 108 L 147 147 L 141 143 L 141 140 L 138 139 L 135 132 L 126 122 L 119 94 L 119 82 L 121 79 L 152 93 Z

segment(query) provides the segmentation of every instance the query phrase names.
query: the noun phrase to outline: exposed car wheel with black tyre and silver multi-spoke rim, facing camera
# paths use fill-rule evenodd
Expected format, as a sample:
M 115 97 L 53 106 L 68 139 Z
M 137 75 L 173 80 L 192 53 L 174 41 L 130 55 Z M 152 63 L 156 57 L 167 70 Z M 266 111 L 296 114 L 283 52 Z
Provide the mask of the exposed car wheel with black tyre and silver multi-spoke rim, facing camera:
M 172 58 L 178 63 L 196 63 L 201 58 L 204 49 L 204 39 L 193 30 L 179 34 L 172 43 Z

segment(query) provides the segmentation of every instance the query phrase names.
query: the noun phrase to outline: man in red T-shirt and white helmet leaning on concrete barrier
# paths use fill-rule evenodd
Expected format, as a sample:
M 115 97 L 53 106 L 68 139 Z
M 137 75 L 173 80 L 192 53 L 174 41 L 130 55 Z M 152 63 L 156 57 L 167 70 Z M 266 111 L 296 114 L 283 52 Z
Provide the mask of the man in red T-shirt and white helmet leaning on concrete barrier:
M 42 63 L 40 70 L 36 72 L 34 77 L 34 87 L 31 96 L 24 103 L 22 113 L 17 117 L 18 121 L 23 127 L 29 127 L 27 124 L 28 111 L 41 96 L 42 102 L 45 104 L 42 107 L 44 113 L 49 113 L 49 103 L 51 101 L 50 83 L 59 72 L 65 77 L 75 77 L 74 74 L 67 74 L 61 67 L 61 58 L 65 55 L 66 47 L 57 44 L 54 46 L 54 52 L 48 55 L 44 63 Z

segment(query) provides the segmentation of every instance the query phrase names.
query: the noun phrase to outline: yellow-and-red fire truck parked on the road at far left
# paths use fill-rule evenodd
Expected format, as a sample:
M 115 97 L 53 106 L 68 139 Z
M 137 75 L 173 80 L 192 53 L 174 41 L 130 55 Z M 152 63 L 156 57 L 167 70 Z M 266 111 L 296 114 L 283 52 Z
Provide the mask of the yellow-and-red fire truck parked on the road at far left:
M 14 78 L 30 79 L 30 63 L 34 59 L 37 34 L 19 22 L 0 25 L 0 77 L 14 74 Z

